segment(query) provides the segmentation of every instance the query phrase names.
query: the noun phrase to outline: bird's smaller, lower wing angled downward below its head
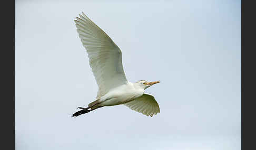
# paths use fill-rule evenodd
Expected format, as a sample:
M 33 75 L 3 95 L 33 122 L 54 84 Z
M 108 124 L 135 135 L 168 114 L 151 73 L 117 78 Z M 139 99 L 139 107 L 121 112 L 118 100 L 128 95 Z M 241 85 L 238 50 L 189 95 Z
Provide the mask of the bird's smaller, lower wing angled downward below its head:
M 153 114 L 160 113 L 159 105 L 157 104 L 155 98 L 150 94 L 144 93 L 141 97 L 124 103 L 124 105 L 147 116 L 153 116 Z

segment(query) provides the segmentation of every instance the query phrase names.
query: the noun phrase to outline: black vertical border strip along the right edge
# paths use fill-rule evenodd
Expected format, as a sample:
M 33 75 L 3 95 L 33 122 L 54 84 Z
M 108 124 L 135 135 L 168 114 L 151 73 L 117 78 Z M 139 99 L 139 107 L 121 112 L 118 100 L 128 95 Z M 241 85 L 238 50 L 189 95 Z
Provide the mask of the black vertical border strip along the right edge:
M 246 3 L 245 3 L 246 2 Z M 255 5 L 241 1 L 241 146 L 255 149 Z

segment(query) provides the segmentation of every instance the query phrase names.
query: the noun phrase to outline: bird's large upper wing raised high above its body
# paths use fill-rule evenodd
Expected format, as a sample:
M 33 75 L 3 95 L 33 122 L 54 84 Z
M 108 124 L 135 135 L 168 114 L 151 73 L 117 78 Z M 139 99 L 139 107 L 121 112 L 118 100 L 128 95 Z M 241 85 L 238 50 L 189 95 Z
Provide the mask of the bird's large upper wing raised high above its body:
M 127 83 L 122 65 L 122 52 L 83 12 L 79 16 L 80 18 L 76 17 L 75 25 L 99 87 L 98 99 L 110 89 Z

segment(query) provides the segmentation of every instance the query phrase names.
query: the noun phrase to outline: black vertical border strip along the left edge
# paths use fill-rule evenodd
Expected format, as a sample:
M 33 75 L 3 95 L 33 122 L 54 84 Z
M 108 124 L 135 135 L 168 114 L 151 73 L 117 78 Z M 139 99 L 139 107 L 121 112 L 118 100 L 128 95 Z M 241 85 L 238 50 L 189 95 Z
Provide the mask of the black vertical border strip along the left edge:
M 3 1 L 1 14 L 1 149 L 15 149 L 15 1 Z

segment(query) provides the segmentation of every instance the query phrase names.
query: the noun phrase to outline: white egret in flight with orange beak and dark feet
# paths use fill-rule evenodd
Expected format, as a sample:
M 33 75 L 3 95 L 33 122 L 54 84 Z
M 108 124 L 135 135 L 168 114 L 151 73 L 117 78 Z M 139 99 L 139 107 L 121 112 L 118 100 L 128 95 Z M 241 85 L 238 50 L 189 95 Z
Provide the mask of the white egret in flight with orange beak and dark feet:
M 82 14 L 82 15 L 81 15 Z M 88 53 L 90 67 L 99 87 L 95 101 L 86 108 L 78 107 L 72 117 L 91 112 L 104 106 L 126 105 L 128 108 L 153 116 L 160 113 L 159 104 L 145 89 L 160 81 L 139 80 L 135 83 L 126 79 L 122 52 L 114 41 L 83 12 L 76 17 L 78 36 Z

